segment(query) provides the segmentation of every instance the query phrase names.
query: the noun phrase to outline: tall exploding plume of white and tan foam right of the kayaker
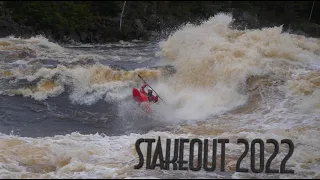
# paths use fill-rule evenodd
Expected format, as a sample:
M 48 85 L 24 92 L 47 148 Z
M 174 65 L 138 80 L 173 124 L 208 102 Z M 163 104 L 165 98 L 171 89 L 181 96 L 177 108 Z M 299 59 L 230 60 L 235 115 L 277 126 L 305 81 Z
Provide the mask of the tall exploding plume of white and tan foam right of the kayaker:
M 319 59 L 314 39 L 282 33 L 282 27 L 233 30 L 231 22 L 231 15 L 218 14 L 199 26 L 188 24 L 160 43 L 164 60 L 177 73 L 154 87 L 180 106 L 174 116 L 190 120 L 226 112 L 245 104 L 239 89 L 248 77 L 290 78 L 292 67 Z

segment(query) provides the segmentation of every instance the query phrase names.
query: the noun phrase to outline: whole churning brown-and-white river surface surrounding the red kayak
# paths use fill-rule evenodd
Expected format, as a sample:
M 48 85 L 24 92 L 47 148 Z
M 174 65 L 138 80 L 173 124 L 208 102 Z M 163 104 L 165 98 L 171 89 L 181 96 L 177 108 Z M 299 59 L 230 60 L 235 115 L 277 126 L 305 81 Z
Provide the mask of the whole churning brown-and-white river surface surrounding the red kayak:
M 8 37 L 0 51 L 1 178 L 320 177 L 319 39 L 282 27 L 236 30 L 231 15 L 218 14 L 163 42 L 62 46 Z M 154 68 L 164 64 L 176 72 Z M 138 74 L 164 100 L 152 105 L 153 118 L 132 101 Z M 134 170 L 136 140 L 158 136 L 162 144 L 230 139 L 226 172 Z M 295 174 L 235 173 L 239 138 L 291 139 L 286 168 Z M 269 158 L 273 146 L 265 146 Z M 271 168 L 287 152 L 281 145 Z M 241 166 L 250 168 L 249 156 Z

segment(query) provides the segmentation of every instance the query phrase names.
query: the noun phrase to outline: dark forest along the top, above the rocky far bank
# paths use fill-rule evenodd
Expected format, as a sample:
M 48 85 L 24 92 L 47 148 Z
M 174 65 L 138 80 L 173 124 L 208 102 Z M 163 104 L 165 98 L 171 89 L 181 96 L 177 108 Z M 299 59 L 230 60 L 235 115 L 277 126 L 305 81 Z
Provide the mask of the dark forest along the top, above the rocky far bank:
M 263 23 L 320 24 L 317 1 L 2 1 L 1 11 L 35 33 L 49 30 L 54 39 L 78 36 L 84 42 L 150 36 L 151 31 L 197 22 L 218 12 L 247 12 Z

